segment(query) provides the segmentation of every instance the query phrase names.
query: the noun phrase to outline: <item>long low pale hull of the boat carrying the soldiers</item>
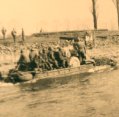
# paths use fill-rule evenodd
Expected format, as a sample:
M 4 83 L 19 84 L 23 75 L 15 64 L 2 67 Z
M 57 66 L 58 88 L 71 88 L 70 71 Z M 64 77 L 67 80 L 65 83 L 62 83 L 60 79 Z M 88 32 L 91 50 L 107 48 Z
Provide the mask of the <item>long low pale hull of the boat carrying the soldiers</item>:
M 56 79 L 61 77 L 68 77 L 76 74 L 82 73 L 92 73 L 96 71 L 104 71 L 110 69 L 110 66 L 103 66 L 103 67 L 94 67 L 93 65 L 82 65 L 80 67 L 72 67 L 72 68 L 64 68 L 64 69 L 56 69 L 52 71 L 44 71 L 44 72 L 21 72 L 16 71 L 14 73 L 9 74 L 9 79 L 13 79 L 15 82 L 19 81 L 32 81 L 32 80 L 42 80 L 42 79 Z

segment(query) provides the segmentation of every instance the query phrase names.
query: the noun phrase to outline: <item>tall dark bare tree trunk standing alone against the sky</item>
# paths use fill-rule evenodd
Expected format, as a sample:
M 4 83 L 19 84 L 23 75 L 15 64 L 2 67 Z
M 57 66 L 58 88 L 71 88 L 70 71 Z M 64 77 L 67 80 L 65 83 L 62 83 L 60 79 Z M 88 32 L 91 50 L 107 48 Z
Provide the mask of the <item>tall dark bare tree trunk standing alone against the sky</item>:
M 97 6 L 96 6 L 97 0 L 92 0 L 92 15 L 93 15 L 93 22 L 94 22 L 94 29 L 97 29 Z

